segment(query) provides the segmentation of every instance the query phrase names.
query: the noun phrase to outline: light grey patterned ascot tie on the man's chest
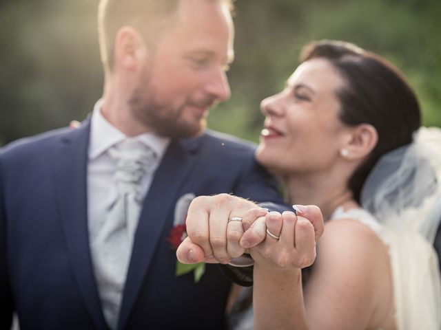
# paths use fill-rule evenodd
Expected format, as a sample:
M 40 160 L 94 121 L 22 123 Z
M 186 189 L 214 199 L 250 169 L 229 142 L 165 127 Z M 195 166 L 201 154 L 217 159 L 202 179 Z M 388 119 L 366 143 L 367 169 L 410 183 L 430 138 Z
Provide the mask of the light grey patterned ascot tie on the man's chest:
M 114 159 L 117 197 L 92 242 L 94 272 L 105 320 L 116 329 L 134 232 L 141 213 L 141 179 L 156 155 L 140 141 L 127 139 L 107 151 Z

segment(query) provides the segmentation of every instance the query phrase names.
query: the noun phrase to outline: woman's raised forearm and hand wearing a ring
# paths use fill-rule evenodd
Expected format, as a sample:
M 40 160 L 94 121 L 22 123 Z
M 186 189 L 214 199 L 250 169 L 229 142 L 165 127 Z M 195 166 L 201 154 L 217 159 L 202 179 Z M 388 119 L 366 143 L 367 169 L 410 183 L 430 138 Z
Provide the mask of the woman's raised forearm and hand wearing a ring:
M 252 248 L 255 329 L 307 329 L 300 268 L 316 256 L 314 227 L 292 212 L 269 214 L 267 236 Z

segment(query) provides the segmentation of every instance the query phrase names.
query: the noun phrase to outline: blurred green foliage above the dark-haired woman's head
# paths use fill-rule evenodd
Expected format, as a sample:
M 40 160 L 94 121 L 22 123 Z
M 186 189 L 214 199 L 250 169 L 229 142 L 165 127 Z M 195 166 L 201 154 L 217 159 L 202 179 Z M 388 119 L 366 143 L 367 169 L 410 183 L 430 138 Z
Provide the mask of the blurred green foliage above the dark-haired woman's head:
M 215 129 L 257 140 L 260 100 L 283 88 L 301 47 L 320 39 L 356 43 L 395 63 L 416 89 L 424 124 L 441 126 L 441 1 L 239 0 L 236 5 L 232 100 L 210 115 Z

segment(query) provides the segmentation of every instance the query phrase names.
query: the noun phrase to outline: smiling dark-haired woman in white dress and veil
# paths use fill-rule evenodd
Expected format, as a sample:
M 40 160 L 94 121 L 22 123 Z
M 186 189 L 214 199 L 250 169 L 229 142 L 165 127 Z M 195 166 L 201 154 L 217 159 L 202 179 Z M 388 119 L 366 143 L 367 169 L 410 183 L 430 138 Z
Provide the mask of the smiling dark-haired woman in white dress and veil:
M 250 250 L 254 329 L 439 330 L 441 137 L 420 129 L 398 70 L 349 43 L 312 43 L 261 108 L 258 162 L 289 201 L 320 207 L 325 232 L 302 274 L 298 252 L 314 233 L 302 239 L 292 214 L 267 215 L 269 233 Z

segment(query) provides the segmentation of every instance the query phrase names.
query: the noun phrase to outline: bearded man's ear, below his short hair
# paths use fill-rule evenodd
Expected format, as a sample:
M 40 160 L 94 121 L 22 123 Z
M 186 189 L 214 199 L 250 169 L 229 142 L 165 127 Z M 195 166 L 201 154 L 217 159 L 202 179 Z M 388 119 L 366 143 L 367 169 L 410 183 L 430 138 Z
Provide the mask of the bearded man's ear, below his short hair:
M 115 37 L 115 67 L 136 72 L 145 63 L 147 46 L 141 34 L 131 26 L 123 26 Z

